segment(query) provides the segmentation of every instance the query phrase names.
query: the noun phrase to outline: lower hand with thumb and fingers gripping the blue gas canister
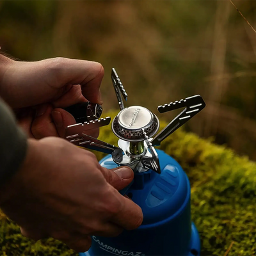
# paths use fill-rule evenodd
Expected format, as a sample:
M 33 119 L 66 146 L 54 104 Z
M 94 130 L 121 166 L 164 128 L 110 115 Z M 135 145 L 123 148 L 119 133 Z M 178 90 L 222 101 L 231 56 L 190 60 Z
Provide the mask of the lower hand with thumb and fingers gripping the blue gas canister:
M 51 236 L 84 252 L 91 235 L 117 236 L 141 225 L 140 207 L 118 192 L 133 175 L 125 166 L 103 168 L 61 138 L 29 139 L 22 168 L 1 188 L 0 207 L 24 236 Z

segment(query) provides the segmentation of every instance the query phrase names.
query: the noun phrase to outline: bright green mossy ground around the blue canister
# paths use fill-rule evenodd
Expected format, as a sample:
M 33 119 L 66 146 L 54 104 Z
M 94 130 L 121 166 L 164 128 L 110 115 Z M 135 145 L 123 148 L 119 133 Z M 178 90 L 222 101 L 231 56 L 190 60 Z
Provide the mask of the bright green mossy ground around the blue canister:
M 112 118 L 114 113 L 108 113 Z M 163 127 L 165 124 L 161 122 Z M 110 127 L 100 140 L 116 144 Z M 191 214 L 202 241 L 202 256 L 256 255 L 256 164 L 195 134 L 174 132 L 161 145 L 191 182 Z M 99 159 L 102 154 L 97 154 Z M 0 212 L 0 255 L 77 255 L 54 239 L 33 242 Z

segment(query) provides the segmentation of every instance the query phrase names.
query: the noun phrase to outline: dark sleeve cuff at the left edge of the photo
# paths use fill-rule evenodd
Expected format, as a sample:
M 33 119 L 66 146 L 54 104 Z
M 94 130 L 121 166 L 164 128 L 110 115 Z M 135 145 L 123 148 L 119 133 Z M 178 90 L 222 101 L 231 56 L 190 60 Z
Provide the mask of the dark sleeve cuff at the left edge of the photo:
M 0 186 L 19 169 L 26 157 L 26 150 L 26 135 L 0 98 Z

